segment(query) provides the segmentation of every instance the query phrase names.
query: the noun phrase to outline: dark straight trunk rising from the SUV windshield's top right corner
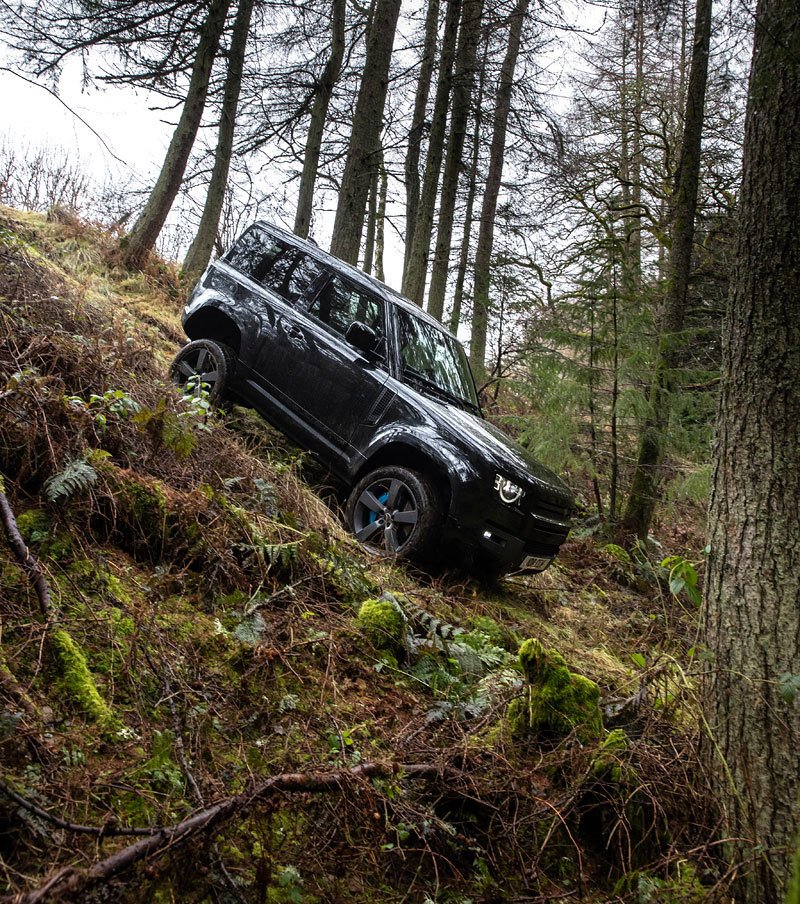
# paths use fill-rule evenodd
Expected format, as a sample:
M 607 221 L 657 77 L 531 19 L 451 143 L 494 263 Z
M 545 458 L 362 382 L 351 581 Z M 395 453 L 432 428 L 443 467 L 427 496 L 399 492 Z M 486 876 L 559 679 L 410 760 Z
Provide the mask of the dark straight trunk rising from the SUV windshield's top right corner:
M 450 267 L 450 246 L 453 241 L 453 217 L 456 209 L 458 176 L 461 171 L 464 143 L 467 136 L 469 106 L 472 100 L 472 83 L 475 76 L 475 57 L 480 39 L 483 0 L 464 0 L 461 9 L 461 34 L 458 39 L 456 66 L 453 75 L 453 112 L 450 117 L 450 134 L 447 138 L 442 193 L 439 201 L 439 226 L 436 232 L 436 249 L 431 268 L 431 285 L 428 291 L 428 313 L 437 320 L 444 313 L 444 294 Z

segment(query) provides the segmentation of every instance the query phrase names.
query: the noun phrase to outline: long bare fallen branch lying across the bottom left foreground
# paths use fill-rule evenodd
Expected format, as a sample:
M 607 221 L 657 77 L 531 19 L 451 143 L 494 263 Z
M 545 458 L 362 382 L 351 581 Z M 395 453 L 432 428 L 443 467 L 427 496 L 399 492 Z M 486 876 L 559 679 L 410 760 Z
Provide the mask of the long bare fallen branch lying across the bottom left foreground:
M 88 888 L 113 879 L 142 860 L 160 857 L 200 834 L 212 835 L 233 816 L 247 816 L 258 804 L 277 794 L 335 792 L 357 780 L 389 776 L 429 781 L 462 778 L 462 774 L 453 769 L 426 764 L 400 765 L 398 763 L 363 763 L 353 766 L 351 769 L 340 769 L 336 772 L 290 772 L 272 776 L 256 784 L 249 791 L 205 807 L 175 825 L 165 826 L 157 834 L 142 838 L 140 841 L 122 848 L 86 870 L 67 867 L 33 891 L 13 898 L 0 898 L 0 904 L 2 902 L 41 904 L 44 901 L 80 900 Z

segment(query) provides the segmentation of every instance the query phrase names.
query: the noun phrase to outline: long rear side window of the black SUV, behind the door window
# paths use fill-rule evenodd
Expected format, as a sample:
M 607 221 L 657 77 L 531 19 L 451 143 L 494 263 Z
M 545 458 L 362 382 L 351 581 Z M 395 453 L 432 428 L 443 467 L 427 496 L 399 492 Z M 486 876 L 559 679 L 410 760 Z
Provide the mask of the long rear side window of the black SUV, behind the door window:
M 295 304 L 308 292 L 321 273 L 320 264 L 303 251 L 292 248 L 254 226 L 228 254 L 228 263 Z

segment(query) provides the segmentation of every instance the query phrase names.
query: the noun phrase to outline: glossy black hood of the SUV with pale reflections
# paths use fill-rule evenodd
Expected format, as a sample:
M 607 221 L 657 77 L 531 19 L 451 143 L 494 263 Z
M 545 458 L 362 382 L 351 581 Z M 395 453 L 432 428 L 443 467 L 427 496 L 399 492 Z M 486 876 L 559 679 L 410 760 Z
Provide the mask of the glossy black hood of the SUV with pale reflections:
M 572 504 L 572 493 L 561 478 L 494 424 L 456 405 L 440 402 L 429 396 L 426 396 L 425 401 L 436 420 L 443 421 L 460 443 L 480 451 L 498 472 L 512 480 L 533 483 L 543 490 L 549 490 L 559 501 Z

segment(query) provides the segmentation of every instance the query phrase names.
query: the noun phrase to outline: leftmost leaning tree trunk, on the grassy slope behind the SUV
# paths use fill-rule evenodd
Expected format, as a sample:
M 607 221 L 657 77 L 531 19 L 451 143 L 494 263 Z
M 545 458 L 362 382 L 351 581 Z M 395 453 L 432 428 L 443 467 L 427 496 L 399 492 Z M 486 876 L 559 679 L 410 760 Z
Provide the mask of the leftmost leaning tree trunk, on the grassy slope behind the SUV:
M 172 135 L 158 180 L 150 192 L 144 210 L 126 236 L 123 257 L 129 267 L 141 267 L 156 243 L 164 222 L 181 187 L 186 164 L 203 118 L 208 83 L 231 0 L 213 0 L 200 32 L 189 90 L 178 125 Z

